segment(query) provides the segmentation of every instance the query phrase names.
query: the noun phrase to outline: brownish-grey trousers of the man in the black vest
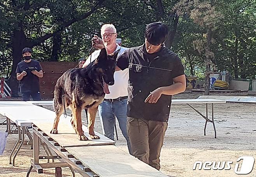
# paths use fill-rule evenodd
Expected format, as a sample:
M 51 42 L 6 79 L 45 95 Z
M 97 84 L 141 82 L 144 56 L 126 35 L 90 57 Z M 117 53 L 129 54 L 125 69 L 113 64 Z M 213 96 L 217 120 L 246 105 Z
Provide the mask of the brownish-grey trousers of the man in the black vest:
M 127 118 L 133 156 L 157 170 L 160 170 L 159 157 L 167 125 L 167 122 Z

